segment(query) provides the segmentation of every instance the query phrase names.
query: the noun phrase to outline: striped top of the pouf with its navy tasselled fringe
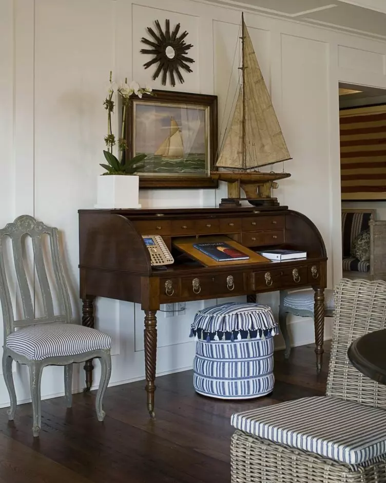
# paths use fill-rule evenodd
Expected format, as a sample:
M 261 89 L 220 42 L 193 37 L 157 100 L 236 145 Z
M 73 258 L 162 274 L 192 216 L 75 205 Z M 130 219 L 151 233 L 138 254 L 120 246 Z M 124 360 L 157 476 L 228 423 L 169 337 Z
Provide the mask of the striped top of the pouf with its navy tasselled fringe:
M 276 335 L 277 323 L 271 307 L 231 302 L 199 310 L 190 336 L 200 340 L 260 339 Z

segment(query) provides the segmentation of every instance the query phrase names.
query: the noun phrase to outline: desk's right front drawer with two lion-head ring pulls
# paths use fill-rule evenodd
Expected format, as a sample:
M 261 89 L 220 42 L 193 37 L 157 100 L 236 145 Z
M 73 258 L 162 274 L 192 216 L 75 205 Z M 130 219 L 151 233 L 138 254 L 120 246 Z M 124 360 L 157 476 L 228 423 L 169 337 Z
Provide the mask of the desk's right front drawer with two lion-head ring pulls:
M 307 285 L 308 283 L 307 266 L 304 265 L 282 270 L 274 268 L 273 270 L 253 273 L 254 290 L 266 288 L 280 290 Z

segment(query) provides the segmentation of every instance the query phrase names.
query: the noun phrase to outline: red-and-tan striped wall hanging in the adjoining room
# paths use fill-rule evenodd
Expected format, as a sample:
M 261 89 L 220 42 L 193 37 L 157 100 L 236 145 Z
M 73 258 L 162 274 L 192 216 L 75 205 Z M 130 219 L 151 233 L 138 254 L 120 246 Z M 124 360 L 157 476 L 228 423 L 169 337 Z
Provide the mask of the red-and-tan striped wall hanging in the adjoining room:
M 386 105 L 340 111 L 342 199 L 386 199 Z

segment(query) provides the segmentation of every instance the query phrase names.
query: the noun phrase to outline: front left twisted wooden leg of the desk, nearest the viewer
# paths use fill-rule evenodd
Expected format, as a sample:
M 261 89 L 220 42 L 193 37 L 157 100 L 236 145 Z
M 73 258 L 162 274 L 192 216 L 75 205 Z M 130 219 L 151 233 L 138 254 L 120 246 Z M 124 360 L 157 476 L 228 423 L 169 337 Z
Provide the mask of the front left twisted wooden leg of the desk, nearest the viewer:
M 157 365 L 157 317 L 156 310 L 145 310 L 145 373 L 147 409 L 153 418 L 154 392 L 156 391 L 156 365 Z

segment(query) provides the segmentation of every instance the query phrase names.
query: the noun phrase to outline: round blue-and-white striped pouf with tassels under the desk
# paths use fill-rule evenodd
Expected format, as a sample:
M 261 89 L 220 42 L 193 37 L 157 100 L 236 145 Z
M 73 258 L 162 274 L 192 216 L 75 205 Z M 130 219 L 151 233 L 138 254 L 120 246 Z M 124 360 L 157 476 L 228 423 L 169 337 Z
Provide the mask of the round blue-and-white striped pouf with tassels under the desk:
M 274 388 L 278 326 L 267 305 L 228 303 L 199 310 L 190 336 L 197 340 L 193 385 L 221 399 L 264 396 Z

